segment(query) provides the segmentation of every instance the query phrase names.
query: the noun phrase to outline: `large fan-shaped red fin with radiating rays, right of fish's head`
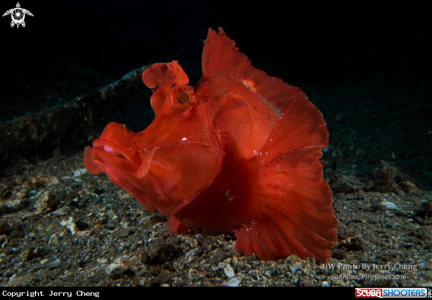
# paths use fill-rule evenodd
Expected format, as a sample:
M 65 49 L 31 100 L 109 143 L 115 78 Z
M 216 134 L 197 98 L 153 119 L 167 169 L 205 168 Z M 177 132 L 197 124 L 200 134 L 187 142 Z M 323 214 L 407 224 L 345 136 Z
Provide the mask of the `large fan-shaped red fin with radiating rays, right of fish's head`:
M 232 191 L 248 190 L 251 199 L 247 221 L 236 232 L 238 252 L 327 261 L 337 225 L 318 160 L 327 144 L 318 109 L 306 97 L 291 97 L 260 153 L 231 185 Z

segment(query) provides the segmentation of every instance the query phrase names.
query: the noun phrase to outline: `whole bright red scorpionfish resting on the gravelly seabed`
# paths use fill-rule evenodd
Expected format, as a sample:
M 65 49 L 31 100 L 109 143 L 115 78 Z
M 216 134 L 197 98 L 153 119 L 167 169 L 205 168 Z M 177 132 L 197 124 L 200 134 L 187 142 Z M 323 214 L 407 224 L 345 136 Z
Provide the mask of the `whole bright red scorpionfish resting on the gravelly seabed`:
M 238 252 L 327 261 L 337 220 L 319 162 L 321 113 L 254 68 L 222 28 L 204 42 L 200 82 L 189 86 L 176 61 L 147 68 L 154 121 L 140 133 L 108 124 L 85 149 L 86 168 L 170 216 L 173 233 L 232 232 Z

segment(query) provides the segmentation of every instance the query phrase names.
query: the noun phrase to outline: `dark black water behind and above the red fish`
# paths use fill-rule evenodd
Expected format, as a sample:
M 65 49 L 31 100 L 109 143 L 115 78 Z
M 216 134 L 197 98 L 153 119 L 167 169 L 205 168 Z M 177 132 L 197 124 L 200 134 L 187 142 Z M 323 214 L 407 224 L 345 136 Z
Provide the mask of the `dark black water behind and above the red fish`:
M 223 27 L 255 67 L 299 86 L 318 106 L 330 132 L 329 165 L 367 175 L 384 159 L 422 188 L 432 186 L 432 49 L 420 2 L 20 4 L 34 14 L 25 28 L 0 18 L 0 122 L 63 105 L 146 64 L 177 60 L 195 84 L 207 30 Z M 15 5 L 3 1 L 0 11 Z M 142 130 L 151 122 L 149 103 L 109 121 Z

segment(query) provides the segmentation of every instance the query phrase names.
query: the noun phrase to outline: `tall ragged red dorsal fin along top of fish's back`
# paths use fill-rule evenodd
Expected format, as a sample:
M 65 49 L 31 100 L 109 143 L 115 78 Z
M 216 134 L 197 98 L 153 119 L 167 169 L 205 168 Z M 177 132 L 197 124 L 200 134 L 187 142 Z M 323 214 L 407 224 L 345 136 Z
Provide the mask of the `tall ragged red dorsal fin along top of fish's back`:
M 222 75 L 253 82 L 257 94 L 266 103 L 275 107 L 278 114 L 285 110 L 292 96 L 305 96 L 299 88 L 287 85 L 282 79 L 254 68 L 247 56 L 239 51 L 236 43 L 225 35 L 222 28 L 219 28 L 219 33 L 209 28 L 204 42 L 203 77 Z

